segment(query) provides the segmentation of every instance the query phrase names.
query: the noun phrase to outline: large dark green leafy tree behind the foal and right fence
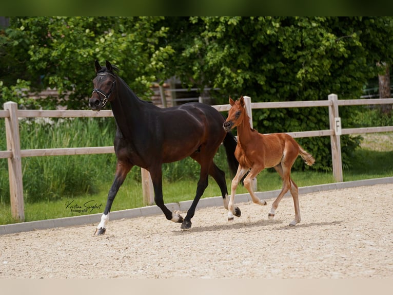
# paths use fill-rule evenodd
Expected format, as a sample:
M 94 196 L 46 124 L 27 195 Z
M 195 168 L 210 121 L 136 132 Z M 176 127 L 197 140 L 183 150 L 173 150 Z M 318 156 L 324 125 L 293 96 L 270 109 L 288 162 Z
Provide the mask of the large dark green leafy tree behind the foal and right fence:
M 166 21 L 166 20 L 165 20 Z M 215 103 L 228 96 L 253 101 L 325 100 L 331 93 L 356 99 L 376 62 L 391 63 L 391 17 L 190 17 L 177 20 L 168 36 L 182 49 L 171 68 L 186 85 L 220 88 Z M 189 29 L 191 27 L 191 29 Z M 172 31 L 174 33 L 172 33 Z M 378 47 L 377 47 L 378 46 Z M 340 111 L 350 124 L 348 110 Z M 328 129 L 327 108 L 253 112 L 262 133 Z M 331 166 L 329 138 L 299 140 L 316 156 L 316 169 Z M 359 144 L 343 137 L 343 162 Z M 300 163 L 298 167 L 301 167 Z

